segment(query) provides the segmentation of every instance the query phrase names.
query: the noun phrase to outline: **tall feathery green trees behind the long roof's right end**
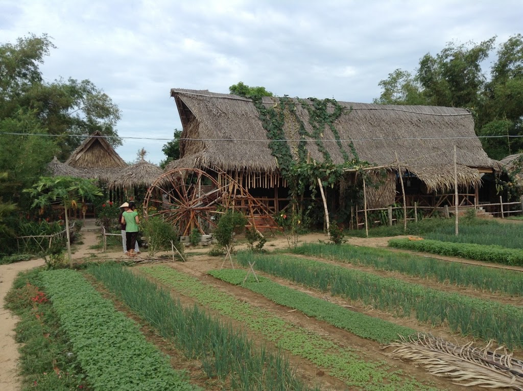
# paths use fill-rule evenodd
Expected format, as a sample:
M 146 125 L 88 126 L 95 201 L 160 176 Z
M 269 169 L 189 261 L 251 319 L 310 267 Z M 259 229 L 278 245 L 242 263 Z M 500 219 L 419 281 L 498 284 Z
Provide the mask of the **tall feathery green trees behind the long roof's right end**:
M 510 138 L 523 135 L 523 37 L 499 45 L 487 80 L 481 65 L 494 44 L 495 37 L 479 44 L 450 42 L 436 56 L 427 53 L 414 75 L 397 69 L 380 81 L 382 93 L 374 103 L 468 108 L 491 158 L 515 153 L 523 149 L 523 140 Z

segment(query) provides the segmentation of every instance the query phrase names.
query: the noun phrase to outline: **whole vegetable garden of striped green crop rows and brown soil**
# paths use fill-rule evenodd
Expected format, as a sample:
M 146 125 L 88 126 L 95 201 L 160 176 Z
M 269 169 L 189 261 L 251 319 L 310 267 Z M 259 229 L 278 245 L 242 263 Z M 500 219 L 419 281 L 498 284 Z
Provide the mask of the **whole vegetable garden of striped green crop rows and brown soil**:
M 475 365 L 461 371 L 468 381 L 446 369 L 450 364 L 441 358 L 438 371 L 449 379 L 389 355 L 396 349 L 403 359 L 436 356 L 437 348 L 427 353 L 433 341 L 457 343 L 460 352 L 468 352 L 469 342 L 490 349 L 492 340 L 491 350 L 503 345 L 521 356 L 523 273 L 347 244 L 253 249 L 233 256 L 239 267 L 234 270 L 229 263 L 219 269 L 222 258 L 189 252 L 187 262 L 134 267 L 91 262 L 81 270 L 37 270 L 20 277 L 10 293 L 13 303 L 27 296 L 19 340 L 32 346 L 29 329 L 43 336 L 37 345 L 50 343 L 49 334 L 63 338 L 61 348 L 41 354 L 49 367 L 25 370 L 26 388 L 370 391 L 465 389 L 463 384 L 474 382 L 522 387 L 519 361 L 507 358 L 505 348 L 489 360 L 513 363 L 508 375 L 490 376 Z M 246 278 L 249 265 L 258 281 L 252 273 Z M 61 333 L 50 332 L 51 325 Z M 144 337 L 140 326 L 157 338 Z M 43 345 L 25 349 L 45 351 Z M 169 361 L 166 351 L 176 352 L 177 360 Z M 175 362 L 191 364 L 179 368 Z

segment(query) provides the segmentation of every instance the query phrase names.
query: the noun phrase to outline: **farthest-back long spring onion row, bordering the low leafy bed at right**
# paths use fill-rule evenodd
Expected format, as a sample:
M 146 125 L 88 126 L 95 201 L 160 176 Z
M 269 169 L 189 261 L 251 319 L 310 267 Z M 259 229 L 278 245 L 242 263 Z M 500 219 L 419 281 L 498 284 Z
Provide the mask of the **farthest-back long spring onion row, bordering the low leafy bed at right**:
M 292 252 L 335 259 L 355 265 L 373 266 L 380 270 L 397 271 L 423 278 L 436 278 L 439 282 L 448 281 L 450 284 L 473 286 L 491 292 L 523 296 L 523 273 L 492 270 L 484 266 L 447 262 L 407 253 L 397 254 L 386 249 L 352 245 L 304 243 L 300 247 L 292 249 Z

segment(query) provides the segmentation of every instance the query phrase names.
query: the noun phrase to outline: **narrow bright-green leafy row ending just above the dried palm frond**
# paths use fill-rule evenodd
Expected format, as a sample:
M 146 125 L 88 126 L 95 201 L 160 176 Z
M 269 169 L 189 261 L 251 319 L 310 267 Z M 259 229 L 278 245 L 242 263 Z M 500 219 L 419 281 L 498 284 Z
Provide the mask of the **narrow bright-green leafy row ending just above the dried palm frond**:
M 246 272 L 244 270 L 222 269 L 211 270 L 209 274 L 230 284 L 241 285 Z M 258 278 L 259 283 L 254 280 L 254 277 L 251 277 L 242 286 L 265 296 L 277 304 L 298 309 L 307 316 L 350 331 L 358 337 L 381 343 L 390 343 L 397 340 L 399 335 L 407 337 L 416 333 L 413 329 L 398 326 L 379 318 L 372 318 L 356 311 L 350 311 L 326 300 L 279 285 L 268 278 Z

